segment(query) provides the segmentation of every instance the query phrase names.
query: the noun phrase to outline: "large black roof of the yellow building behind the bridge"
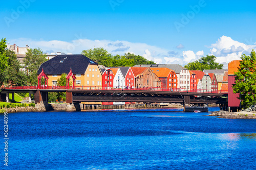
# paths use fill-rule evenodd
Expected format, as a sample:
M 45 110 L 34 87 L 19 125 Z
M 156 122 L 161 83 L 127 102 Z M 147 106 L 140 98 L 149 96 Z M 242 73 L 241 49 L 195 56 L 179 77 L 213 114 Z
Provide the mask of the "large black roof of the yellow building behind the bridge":
M 37 74 L 40 74 L 42 68 L 44 68 L 47 75 L 61 75 L 64 72 L 68 74 L 70 68 L 72 68 L 73 74 L 84 74 L 89 64 L 97 65 L 95 61 L 81 54 L 57 55 L 42 63 L 37 70 Z

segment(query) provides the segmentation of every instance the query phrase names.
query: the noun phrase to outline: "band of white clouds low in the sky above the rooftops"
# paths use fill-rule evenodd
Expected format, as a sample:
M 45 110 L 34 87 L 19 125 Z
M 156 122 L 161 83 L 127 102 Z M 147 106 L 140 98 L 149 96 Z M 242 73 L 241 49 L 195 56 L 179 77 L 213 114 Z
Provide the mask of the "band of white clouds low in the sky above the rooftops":
M 136 43 L 129 41 L 110 41 L 110 40 L 90 40 L 83 38 L 81 35 L 75 35 L 75 39 L 67 41 L 45 41 L 45 40 L 32 40 L 29 38 L 18 38 L 8 40 L 10 44 L 17 44 L 22 47 L 26 44 L 32 44 L 32 48 L 41 48 L 44 52 L 62 52 L 66 54 L 80 54 L 83 50 L 88 50 L 93 47 L 103 47 L 109 53 L 116 55 L 123 55 L 125 53 L 132 53 L 140 55 L 148 60 L 155 61 L 156 63 L 163 64 L 180 64 L 185 65 L 188 62 L 193 62 L 204 56 L 204 51 L 194 52 L 192 50 L 183 51 L 182 54 L 172 49 L 164 49 L 146 43 Z M 182 47 L 180 44 L 177 47 Z M 251 43 L 247 45 L 230 37 L 222 36 L 218 41 L 209 46 L 209 55 L 215 55 L 217 62 L 230 62 L 234 59 L 240 59 L 242 54 L 249 55 L 251 50 L 256 45 Z

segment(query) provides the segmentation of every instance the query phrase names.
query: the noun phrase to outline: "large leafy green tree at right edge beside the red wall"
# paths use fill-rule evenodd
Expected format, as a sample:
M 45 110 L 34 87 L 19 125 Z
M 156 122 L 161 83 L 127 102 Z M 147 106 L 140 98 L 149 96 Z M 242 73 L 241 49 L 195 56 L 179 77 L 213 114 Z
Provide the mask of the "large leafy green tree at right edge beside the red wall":
M 241 104 L 244 108 L 256 104 L 256 56 L 252 50 L 249 56 L 242 55 L 242 61 L 236 75 L 236 84 L 233 84 L 233 92 L 240 93 Z

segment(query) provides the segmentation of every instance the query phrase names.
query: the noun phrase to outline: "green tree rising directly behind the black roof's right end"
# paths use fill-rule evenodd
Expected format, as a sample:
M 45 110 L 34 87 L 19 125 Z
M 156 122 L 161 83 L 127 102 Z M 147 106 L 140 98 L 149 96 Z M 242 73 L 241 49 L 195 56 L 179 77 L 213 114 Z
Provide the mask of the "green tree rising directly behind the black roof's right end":
M 83 50 L 82 55 L 90 58 L 91 60 L 97 62 L 100 65 L 111 67 L 113 66 L 113 57 L 112 54 L 110 54 L 108 51 L 106 51 L 102 47 L 98 48 L 91 48 L 89 50 Z

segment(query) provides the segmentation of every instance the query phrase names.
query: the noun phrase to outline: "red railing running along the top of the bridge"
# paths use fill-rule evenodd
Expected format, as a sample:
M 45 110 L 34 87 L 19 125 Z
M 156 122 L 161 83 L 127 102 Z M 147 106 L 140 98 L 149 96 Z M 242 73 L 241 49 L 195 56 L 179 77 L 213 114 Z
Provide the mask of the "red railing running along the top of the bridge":
M 73 89 L 73 90 L 146 90 L 146 91 L 174 91 L 174 92 L 194 92 L 194 93 L 228 93 L 227 90 L 206 90 L 206 89 L 185 89 L 185 88 L 162 88 L 162 87 L 85 87 L 85 86 L 72 86 L 67 88 L 66 86 L 1 86 L 1 89 Z

